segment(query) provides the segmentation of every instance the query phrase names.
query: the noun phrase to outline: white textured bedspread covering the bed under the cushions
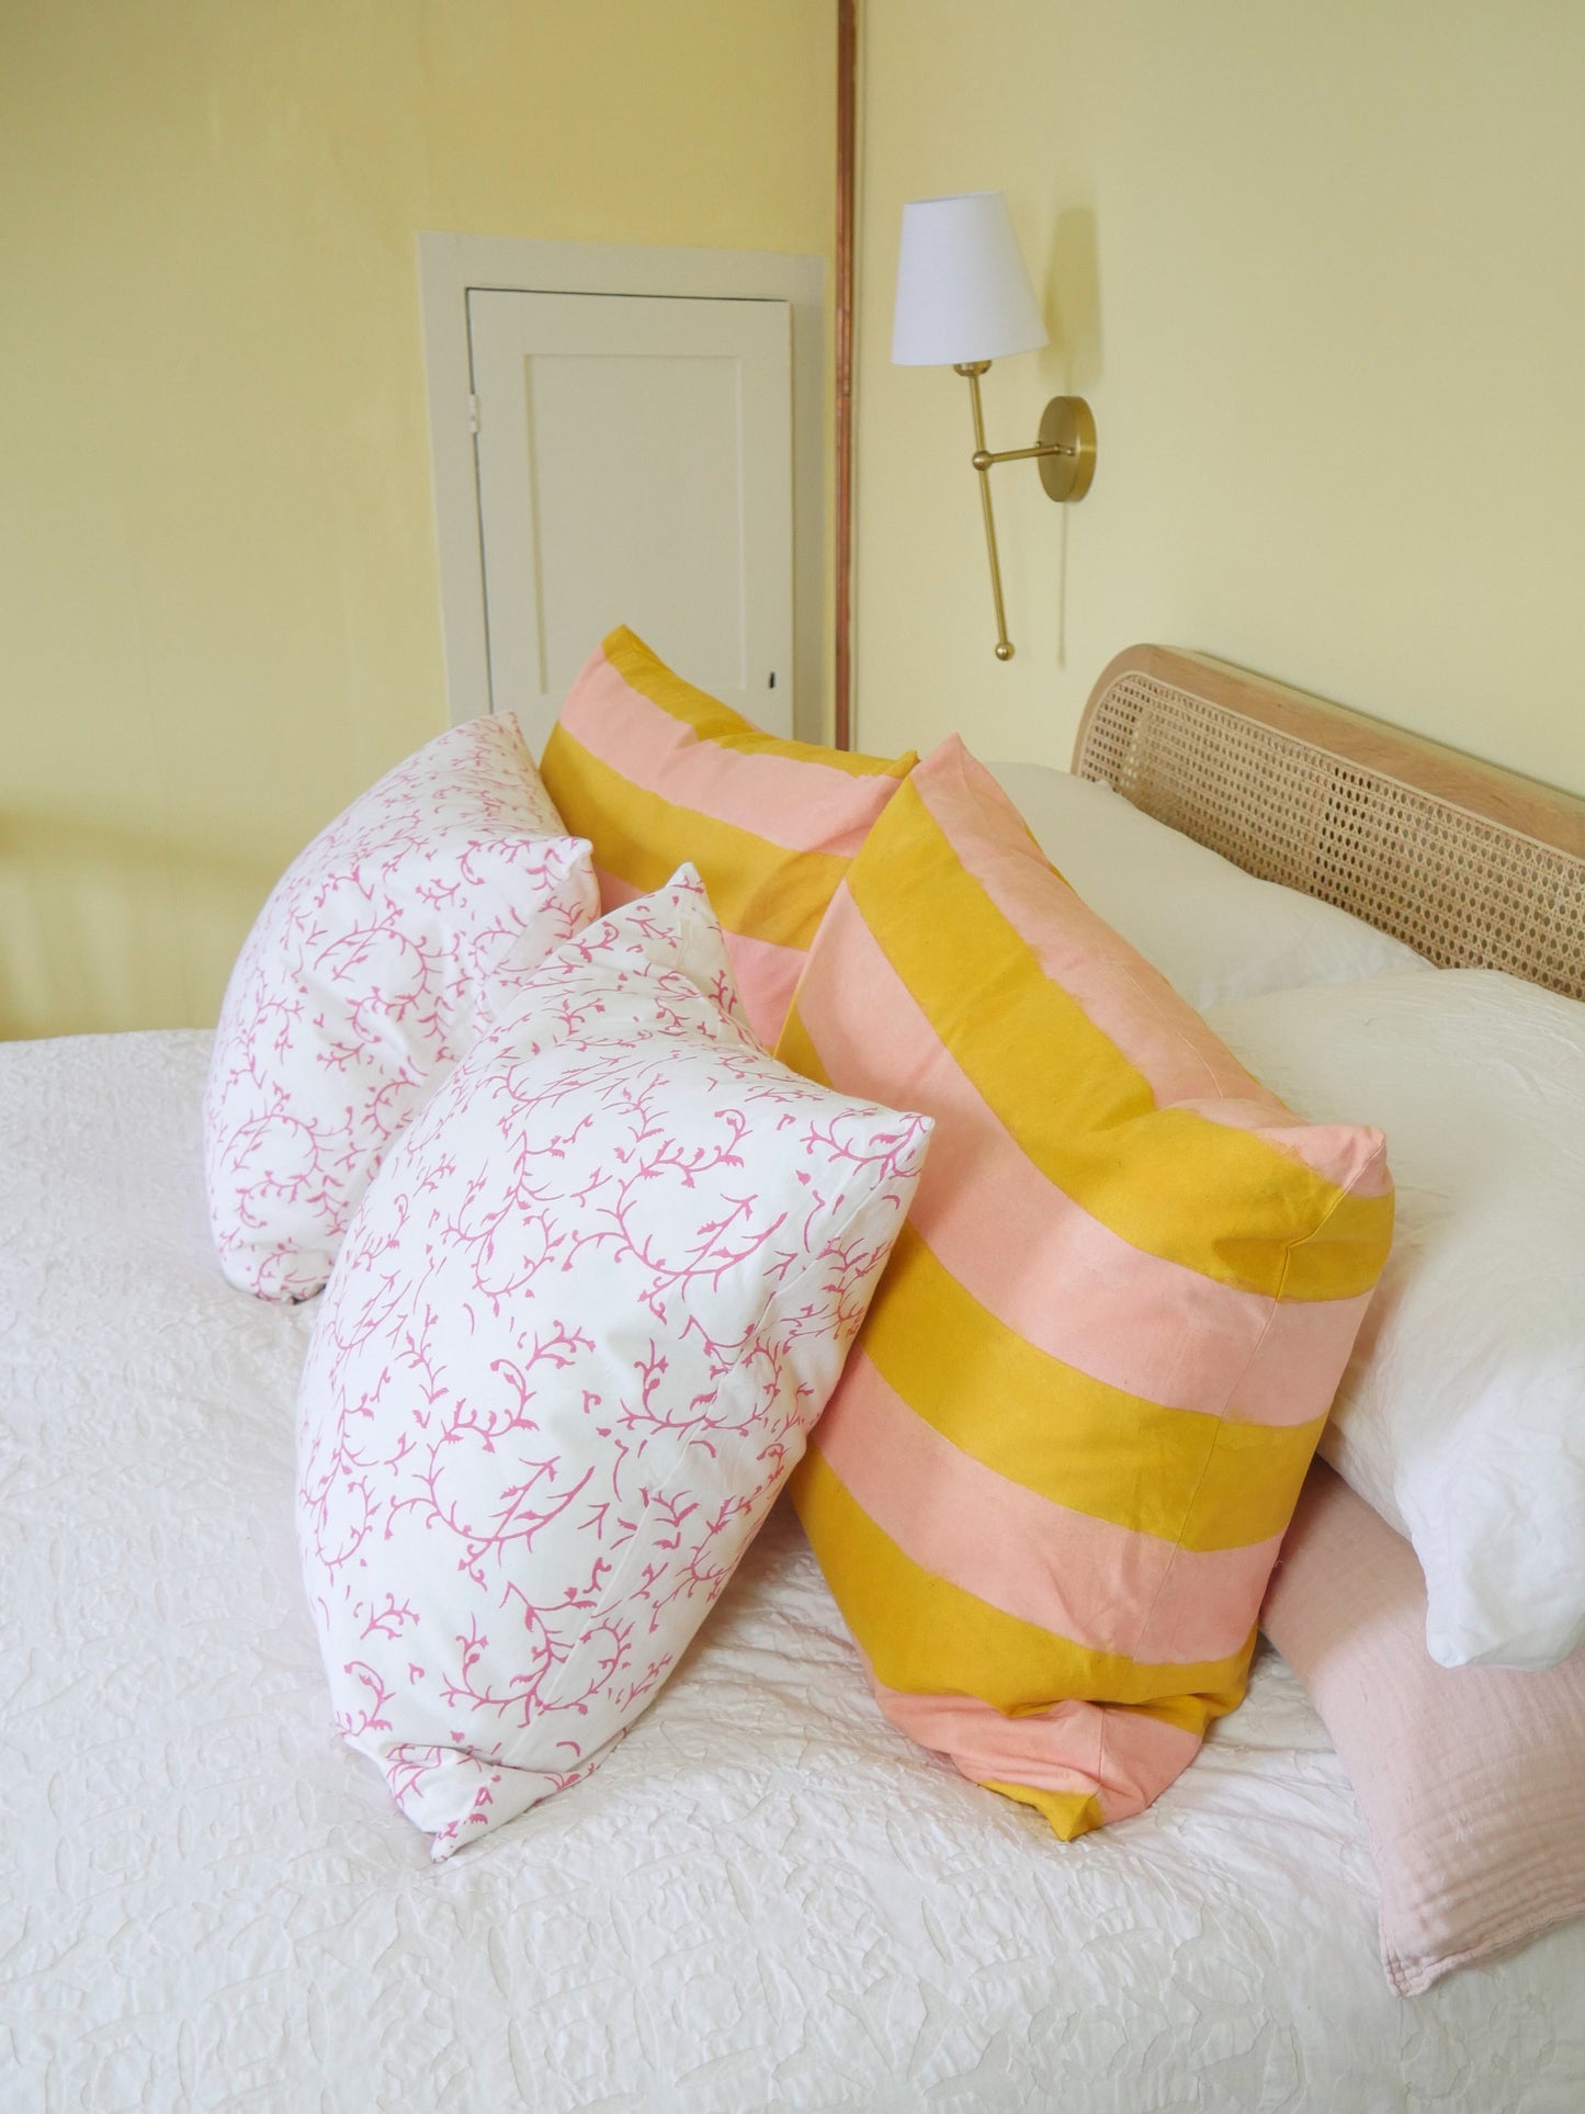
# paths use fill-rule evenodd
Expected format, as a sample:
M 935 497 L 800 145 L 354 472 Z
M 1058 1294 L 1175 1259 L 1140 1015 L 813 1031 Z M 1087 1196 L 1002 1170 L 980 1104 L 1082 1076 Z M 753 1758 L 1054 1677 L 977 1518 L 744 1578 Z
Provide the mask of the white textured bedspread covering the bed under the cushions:
M 213 1262 L 205 1053 L 0 1046 L 6 2114 L 1585 2106 L 1585 1926 L 1391 1996 L 1281 1659 L 1059 1843 L 885 1725 L 786 1512 L 615 1757 L 433 1867 L 330 1727 L 313 1309 Z

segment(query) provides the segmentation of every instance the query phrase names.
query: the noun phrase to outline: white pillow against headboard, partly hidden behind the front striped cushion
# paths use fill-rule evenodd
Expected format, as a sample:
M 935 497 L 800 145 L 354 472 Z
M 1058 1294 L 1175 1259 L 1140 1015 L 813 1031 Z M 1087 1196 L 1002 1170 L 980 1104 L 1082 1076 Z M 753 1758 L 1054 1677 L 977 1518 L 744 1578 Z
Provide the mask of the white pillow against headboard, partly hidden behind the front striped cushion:
M 1044 763 L 991 772 L 1063 879 L 1196 1008 L 1431 968 L 1361 917 L 1257 882 L 1107 784 Z

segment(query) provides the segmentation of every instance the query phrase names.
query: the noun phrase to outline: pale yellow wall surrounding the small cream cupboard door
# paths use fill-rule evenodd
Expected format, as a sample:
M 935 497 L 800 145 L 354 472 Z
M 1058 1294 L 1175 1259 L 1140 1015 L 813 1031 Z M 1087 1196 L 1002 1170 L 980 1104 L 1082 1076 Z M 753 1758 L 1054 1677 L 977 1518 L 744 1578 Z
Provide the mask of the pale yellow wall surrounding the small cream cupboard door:
M 831 0 L 8 0 L 0 1034 L 207 1023 L 446 723 L 414 233 L 828 252 Z

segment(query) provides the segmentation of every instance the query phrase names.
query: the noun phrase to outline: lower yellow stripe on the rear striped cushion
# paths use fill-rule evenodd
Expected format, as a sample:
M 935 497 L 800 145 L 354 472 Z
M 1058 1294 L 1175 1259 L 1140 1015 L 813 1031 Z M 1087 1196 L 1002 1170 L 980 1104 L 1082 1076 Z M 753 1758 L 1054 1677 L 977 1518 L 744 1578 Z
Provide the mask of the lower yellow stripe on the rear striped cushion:
M 729 932 L 807 951 L 852 865 L 835 852 L 792 852 L 636 786 L 556 727 L 539 763 L 545 791 L 594 863 L 649 894 L 691 858 Z

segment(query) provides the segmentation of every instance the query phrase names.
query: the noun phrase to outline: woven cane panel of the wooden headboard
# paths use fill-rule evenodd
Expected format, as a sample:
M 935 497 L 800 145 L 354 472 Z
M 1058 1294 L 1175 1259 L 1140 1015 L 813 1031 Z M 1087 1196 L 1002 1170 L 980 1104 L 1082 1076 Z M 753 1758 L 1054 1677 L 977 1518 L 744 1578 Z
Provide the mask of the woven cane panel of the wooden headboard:
M 1568 852 L 1139 672 L 1099 700 L 1078 772 L 1441 968 L 1585 998 L 1585 860 Z

